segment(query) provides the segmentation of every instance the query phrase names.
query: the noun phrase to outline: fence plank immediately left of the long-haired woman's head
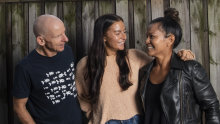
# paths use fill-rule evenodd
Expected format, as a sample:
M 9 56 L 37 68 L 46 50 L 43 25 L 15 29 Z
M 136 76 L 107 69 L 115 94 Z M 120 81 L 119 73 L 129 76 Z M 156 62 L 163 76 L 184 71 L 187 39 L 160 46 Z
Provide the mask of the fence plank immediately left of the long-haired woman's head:
M 84 55 L 87 55 L 88 49 L 93 40 L 93 29 L 95 22 L 95 2 L 82 1 L 82 40 Z

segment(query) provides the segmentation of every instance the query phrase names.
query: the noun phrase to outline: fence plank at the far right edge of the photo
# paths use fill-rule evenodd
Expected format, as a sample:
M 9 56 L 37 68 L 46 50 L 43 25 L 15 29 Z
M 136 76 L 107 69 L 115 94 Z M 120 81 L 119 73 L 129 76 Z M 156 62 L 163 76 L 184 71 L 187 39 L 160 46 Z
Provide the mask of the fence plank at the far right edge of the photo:
M 220 100 L 220 1 L 209 0 L 209 51 L 210 51 L 210 80 Z

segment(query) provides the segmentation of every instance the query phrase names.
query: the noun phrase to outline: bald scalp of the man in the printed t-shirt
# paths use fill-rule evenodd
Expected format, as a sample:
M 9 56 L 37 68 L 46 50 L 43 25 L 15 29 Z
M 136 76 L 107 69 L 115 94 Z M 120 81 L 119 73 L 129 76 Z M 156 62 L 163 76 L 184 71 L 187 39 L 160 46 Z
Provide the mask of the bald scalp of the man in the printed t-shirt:
M 51 26 L 56 23 L 63 23 L 58 17 L 54 15 L 41 15 L 39 16 L 33 26 L 35 37 L 46 35 Z

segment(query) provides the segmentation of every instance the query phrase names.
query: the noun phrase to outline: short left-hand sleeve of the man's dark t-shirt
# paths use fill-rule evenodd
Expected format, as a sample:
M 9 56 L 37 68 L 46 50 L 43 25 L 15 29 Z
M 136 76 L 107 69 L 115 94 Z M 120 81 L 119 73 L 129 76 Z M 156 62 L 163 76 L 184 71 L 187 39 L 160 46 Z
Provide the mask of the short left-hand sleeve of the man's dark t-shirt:
M 27 98 L 30 93 L 30 77 L 24 66 L 18 64 L 15 68 L 12 95 L 16 98 Z

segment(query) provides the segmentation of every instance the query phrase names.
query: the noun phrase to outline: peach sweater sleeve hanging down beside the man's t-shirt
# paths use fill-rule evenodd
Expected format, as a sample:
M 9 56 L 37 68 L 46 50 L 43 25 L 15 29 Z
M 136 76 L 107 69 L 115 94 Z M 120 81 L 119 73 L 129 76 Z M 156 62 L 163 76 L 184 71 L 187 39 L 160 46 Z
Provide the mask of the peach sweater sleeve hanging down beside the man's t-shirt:
M 86 72 L 87 57 L 82 58 L 76 67 L 76 89 L 81 109 L 86 113 L 87 118 L 91 112 L 91 104 L 83 96 L 88 94 L 88 83 L 85 81 L 84 76 Z

